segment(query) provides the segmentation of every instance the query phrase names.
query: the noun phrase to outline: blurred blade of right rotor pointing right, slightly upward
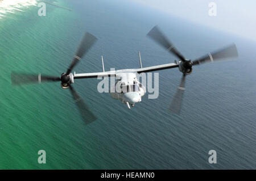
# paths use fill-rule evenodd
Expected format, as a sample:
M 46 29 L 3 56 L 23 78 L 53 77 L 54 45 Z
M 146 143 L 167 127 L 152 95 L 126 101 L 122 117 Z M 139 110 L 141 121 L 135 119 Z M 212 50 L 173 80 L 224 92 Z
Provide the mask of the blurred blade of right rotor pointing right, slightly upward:
M 235 44 L 229 45 L 228 47 L 218 50 L 213 53 L 209 53 L 192 62 L 193 65 L 199 65 L 205 62 L 213 62 L 215 60 L 238 57 L 237 47 Z

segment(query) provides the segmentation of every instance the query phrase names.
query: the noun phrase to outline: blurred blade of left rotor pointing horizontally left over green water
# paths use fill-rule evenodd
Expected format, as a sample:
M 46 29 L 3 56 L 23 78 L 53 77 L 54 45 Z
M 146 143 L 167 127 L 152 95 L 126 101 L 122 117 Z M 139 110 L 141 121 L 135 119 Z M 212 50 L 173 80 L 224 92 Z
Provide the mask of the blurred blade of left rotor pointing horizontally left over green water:
M 11 85 L 21 86 L 24 84 L 31 83 L 43 83 L 43 82 L 57 82 L 60 81 L 59 77 L 53 77 L 48 75 L 39 74 L 22 74 L 22 73 L 11 73 Z

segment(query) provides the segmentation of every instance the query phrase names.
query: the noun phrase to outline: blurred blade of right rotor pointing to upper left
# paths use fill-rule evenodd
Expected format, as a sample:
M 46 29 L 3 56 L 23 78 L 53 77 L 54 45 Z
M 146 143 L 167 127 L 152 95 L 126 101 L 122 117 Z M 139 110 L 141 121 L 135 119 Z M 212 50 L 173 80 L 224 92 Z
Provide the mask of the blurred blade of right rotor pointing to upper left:
M 159 30 L 157 26 L 152 28 L 150 32 L 147 33 L 147 36 L 152 40 L 155 40 L 156 43 L 162 45 L 168 51 L 177 56 L 181 61 L 185 61 L 184 56 L 174 47 L 174 45 L 167 39 L 166 36 Z

